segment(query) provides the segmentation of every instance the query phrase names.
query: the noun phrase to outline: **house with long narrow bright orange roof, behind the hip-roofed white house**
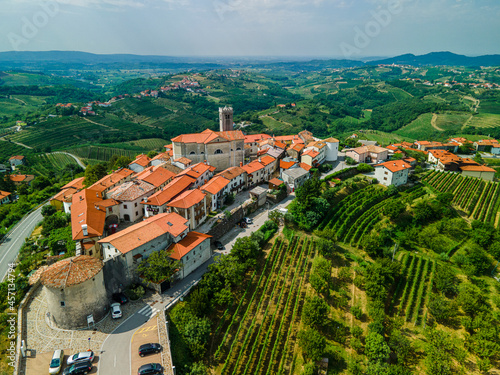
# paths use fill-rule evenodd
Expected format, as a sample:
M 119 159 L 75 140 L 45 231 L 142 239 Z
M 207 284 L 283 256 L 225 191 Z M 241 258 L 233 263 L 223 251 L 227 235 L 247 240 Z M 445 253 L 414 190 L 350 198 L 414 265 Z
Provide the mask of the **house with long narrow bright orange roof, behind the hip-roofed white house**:
M 167 204 L 186 190 L 191 189 L 195 182 L 196 180 L 192 177 L 181 176 L 143 200 L 141 203 L 144 205 L 145 216 L 150 217 L 168 212 Z

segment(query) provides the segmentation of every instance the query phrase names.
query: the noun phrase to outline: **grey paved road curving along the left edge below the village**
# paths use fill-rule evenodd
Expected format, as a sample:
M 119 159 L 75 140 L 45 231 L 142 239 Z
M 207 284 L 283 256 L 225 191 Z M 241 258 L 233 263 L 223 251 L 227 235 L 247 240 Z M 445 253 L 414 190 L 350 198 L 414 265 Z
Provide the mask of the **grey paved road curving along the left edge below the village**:
M 0 279 L 4 279 L 9 263 L 16 260 L 26 237 L 31 235 L 36 224 L 42 221 L 42 207 L 24 217 L 0 243 Z

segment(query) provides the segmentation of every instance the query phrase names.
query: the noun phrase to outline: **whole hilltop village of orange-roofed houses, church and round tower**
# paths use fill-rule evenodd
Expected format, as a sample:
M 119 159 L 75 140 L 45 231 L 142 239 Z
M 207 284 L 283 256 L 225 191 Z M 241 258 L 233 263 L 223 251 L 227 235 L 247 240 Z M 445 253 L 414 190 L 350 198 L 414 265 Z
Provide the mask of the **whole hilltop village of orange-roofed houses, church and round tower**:
M 335 138 L 318 139 L 309 131 L 245 135 L 234 130 L 229 107 L 219 109 L 219 123 L 219 131 L 179 135 L 164 152 L 152 158 L 138 155 L 128 167 L 90 186 L 85 186 L 85 177 L 77 178 L 50 200 L 56 209 L 71 215 L 76 243 L 76 257 L 38 272 L 51 296 L 54 324 L 68 329 L 85 326 L 88 314 L 95 319 L 104 316 L 108 297 L 125 286 L 143 282 L 154 287 L 136 269 L 159 250 L 167 249 L 170 258 L 182 265 L 172 280 L 157 286 L 159 290 L 185 278 L 212 256 L 217 238 L 207 233 L 206 223 L 236 194 L 249 190 L 260 206 L 272 192 L 293 194 L 314 173 L 328 173 L 330 164 L 338 160 L 339 140 Z M 353 147 L 342 150 L 345 160 L 371 164 L 373 181 L 385 186 L 408 183 L 417 166 L 411 156 L 415 153 L 437 170 L 492 181 L 495 170 L 457 154 L 463 147 L 500 154 L 495 140 L 453 138 L 446 143 L 417 141 L 381 147 L 356 134 L 351 138 Z M 22 155 L 11 157 L 11 168 L 23 160 Z M 29 183 L 30 178 L 10 175 L 14 184 Z M 1 194 L 2 204 L 10 202 L 8 192 Z M 225 215 L 219 217 L 214 223 Z M 97 274 L 101 276 L 96 279 Z M 68 283 L 68 275 L 78 282 Z

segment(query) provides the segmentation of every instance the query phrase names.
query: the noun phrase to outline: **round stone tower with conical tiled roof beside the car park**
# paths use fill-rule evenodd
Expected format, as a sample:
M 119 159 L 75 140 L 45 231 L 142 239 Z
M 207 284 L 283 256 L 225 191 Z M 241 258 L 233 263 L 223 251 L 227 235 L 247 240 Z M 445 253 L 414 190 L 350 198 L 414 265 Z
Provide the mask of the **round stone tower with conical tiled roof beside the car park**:
M 87 327 L 89 315 L 97 323 L 108 312 L 100 259 L 79 255 L 60 260 L 42 273 L 40 281 L 47 297 L 47 316 L 59 328 Z

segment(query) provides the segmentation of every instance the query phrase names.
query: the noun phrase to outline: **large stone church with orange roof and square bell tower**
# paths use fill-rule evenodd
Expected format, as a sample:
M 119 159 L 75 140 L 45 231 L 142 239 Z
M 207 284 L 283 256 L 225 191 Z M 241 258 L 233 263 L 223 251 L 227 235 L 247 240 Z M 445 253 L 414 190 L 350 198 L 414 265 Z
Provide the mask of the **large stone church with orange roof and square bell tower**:
M 187 158 L 192 164 L 207 161 L 223 171 L 245 161 L 245 136 L 233 130 L 233 109 L 219 108 L 220 131 L 207 129 L 201 133 L 182 134 L 172 139 L 174 161 Z

